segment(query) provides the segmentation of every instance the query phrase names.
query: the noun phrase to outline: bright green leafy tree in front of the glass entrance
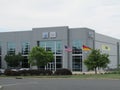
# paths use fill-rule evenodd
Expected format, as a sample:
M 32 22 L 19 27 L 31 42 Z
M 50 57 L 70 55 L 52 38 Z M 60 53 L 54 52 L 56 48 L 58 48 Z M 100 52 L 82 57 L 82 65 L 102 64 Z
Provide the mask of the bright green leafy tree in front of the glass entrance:
M 47 65 L 48 62 L 51 62 L 53 60 L 54 60 L 54 56 L 51 51 L 45 51 L 44 48 L 38 46 L 33 47 L 28 56 L 28 62 L 32 66 L 36 65 L 38 68 L 40 66 Z

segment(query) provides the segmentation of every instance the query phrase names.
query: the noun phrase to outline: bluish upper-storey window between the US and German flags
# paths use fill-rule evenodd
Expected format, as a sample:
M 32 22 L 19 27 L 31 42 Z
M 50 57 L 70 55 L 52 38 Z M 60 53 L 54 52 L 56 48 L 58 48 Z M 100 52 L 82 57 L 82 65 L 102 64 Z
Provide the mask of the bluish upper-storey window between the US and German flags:
M 82 43 L 80 40 L 74 40 L 72 43 L 72 53 L 73 54 L 82 54 Z

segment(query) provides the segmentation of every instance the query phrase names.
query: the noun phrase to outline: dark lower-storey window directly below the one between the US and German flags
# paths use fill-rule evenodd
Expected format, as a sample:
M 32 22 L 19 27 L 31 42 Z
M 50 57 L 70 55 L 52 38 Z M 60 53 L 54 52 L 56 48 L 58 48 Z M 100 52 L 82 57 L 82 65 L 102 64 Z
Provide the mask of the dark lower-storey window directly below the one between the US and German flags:
M 82 71 L 82 56 L 73 56 L 72 57 L 72 70 L 73 71 Z

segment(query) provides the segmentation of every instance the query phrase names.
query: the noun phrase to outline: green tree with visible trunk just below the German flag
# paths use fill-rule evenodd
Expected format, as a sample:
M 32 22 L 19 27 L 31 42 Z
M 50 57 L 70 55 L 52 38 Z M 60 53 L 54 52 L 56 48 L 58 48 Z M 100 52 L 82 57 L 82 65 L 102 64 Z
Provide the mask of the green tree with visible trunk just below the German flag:
M 110 63 L 108 57 L 108 54 L 102 54 L 100 50 L 93 49 L 87 59 L 84 60 L 84 64 L 88 70 L 95 70 L 95 74 L 97 74 L 97 68 L 105 68 Z

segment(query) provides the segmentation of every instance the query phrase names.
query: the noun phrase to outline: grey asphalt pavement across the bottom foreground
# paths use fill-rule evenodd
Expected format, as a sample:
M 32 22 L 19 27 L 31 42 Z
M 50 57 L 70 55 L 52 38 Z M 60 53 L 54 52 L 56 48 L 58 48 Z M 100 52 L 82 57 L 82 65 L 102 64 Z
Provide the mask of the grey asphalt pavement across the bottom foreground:
M 0 78 L 1 90 L 120 90 L 120 80 Z

